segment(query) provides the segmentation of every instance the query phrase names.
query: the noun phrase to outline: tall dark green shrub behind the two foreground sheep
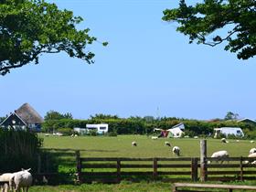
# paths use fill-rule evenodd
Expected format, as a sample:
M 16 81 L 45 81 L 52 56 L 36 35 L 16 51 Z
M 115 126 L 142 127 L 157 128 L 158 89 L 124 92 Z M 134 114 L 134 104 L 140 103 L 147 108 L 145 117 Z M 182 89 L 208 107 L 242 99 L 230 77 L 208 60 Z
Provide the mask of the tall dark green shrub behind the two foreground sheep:
M 15 172 L 21 168 L 36 171 L 42 142 L 36 133 L 0 129 L 0 172 Z

